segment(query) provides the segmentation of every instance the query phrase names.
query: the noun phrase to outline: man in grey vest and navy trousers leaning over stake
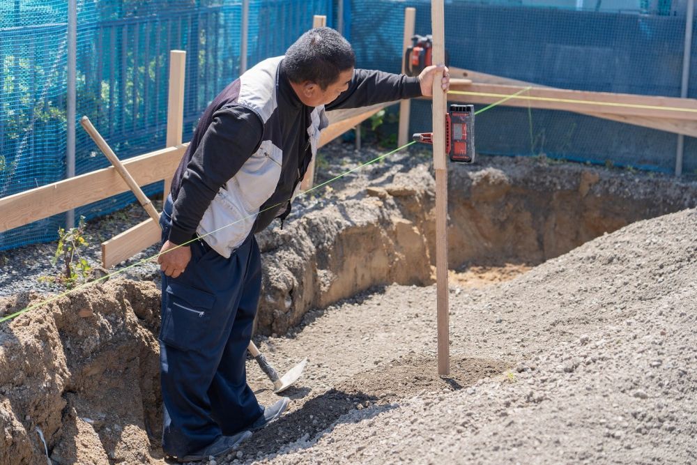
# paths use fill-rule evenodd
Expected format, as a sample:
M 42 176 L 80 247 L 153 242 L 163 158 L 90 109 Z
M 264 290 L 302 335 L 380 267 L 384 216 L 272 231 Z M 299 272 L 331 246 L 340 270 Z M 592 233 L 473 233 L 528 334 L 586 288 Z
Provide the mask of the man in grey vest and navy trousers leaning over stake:
M 263 408 L 246 381 L 261 291 L 254 233 L 289 214 L 325 111 L 430 96 L 436 77 L 449 85 L 442 66 L 406 77 L 354 65 L 337 31 L 307 31 L 213 100 L 174 175 L 158 259 L 162 446 L 182 462 L 233 450 L 288 406 Z

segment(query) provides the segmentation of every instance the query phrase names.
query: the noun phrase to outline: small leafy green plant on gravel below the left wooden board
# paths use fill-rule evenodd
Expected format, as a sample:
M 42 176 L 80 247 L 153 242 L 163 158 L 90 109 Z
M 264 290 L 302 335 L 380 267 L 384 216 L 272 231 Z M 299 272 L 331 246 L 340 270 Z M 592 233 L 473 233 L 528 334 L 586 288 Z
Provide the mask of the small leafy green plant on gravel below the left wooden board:
M 56 277 L 45 277 L 45 280 L 59 282 L 68 289 L 89 280 L 92 267 L 80 253 L 89 245 L 85 236 L 86 226 L 85 217 L 81 216 L 77 227 L 58 230 L 58 246 L 51 264 L 56 266 L 59 259 L 63 259 L 63 272 Z

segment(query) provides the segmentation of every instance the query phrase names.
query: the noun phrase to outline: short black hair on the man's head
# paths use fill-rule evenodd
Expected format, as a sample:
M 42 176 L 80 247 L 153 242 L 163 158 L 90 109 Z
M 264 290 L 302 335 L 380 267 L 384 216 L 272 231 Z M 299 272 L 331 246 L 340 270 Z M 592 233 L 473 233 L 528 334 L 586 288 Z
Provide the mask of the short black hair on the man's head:
M 325 90 L 339 73 L 355 66 L 348 40 L 334 29 L 318 27 L 302 34 L 286 51 L 283 68 L 291 82 L 314 82 Z

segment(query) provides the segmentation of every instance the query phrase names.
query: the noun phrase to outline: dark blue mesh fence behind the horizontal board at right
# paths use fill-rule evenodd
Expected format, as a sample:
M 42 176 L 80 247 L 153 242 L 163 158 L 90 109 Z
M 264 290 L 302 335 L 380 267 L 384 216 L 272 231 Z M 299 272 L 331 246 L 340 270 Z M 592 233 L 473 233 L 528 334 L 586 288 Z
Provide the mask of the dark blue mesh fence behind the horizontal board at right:
M 445 47 L 452 66 L 562 89 L 680 96 L 684 2 L 586 0 L 579 8 L 562 0 L 525 3 L 446 2 Z M 429 1 L 351 2 L 346 35 L 359 66 L 401 69 L 408 6 L 417 10 L 416 33 L 430 33 Z M 691 63 L 688 96 L 696 98 L 697 33 Z M 429 130 L 430 102 L 414 102 L 411 115 L 413 132 Z M 477 151 L 493 155 L 672 172 L 676 145 L 673 133 L 569 112 L 501 106 L 477 118 Z M 696 154 L 697 139 L 686 137 L 684 173 L 697 172 Z

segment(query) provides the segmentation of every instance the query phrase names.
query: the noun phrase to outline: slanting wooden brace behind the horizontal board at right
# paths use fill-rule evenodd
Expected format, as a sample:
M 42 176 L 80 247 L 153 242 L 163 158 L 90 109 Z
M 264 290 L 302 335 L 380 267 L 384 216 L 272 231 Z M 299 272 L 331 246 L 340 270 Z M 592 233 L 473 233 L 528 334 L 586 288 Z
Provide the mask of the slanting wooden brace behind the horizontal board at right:
M 487 73 L 480 73 L 479 71 L 465 70 L 462 68 L 450 68 L 450 75 L 457 77 L 467 77 L 469 79 L 472 79 L 474 82 L 484 84 L 507 84 L 510 86 L 535 86 L 542 87 L 545 89 L 554 89 L 549 86 L 540 86 L 539 84 L 533 84 L 531 82 L 519 81 L 518 79 L 510 79 L 508 77 L 490 75 Z M 498 99 L 492 97 L 491 102 L 488 103 L 493 103 L 495 101 L 498 101 Z M 503 105 L 505 105 L 505 103 Z M 578 113 L 587 116 L 594 116 L 595 118 L 609 119 L 611 121 L 619 121 L 620 123 L 643 126 L 644 128 L 657 129 L 667 132 L 675 132 L 676 134 L 697 137 L 697 121 L 670 118 L 647 118 L 645 116 L 626 116 L 611 113 Z

